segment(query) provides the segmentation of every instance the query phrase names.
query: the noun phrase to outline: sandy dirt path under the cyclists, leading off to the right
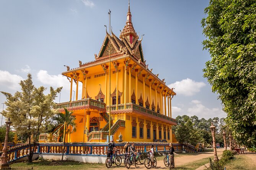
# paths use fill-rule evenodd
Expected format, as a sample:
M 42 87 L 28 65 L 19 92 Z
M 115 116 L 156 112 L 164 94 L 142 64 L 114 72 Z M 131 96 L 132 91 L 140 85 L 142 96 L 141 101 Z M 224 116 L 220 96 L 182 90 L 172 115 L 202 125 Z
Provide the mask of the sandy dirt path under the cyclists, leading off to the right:
M 223 148 L 222 149 L 217 149 L 217 154 L 218 156 L 221 155 L 221 153 L 223 152 Z M 194 162 L 196 160 L 200 160 L 203 158 L 207 158 L 210 156 L 214 156 L 213 152 L 199 152 L 199 154 L 197 155 L 184 155 L 181 157 L 175 157 L 174 156 L 174 162 L 175 162 L 175 167 L 178 165 L 183 165 L 183 164 L 187 164 L 189 162 Z M 118 169 L 118 170 L 127 170 L 127 168 L 124 167 L 124 164 L 122 162 L 122 166 L 121 167 L 111 167 L 109 169 Z M 144 167 L 144 164 L 137 164 L 137 167 L 135 168 L 134 165 L 130 166 L 130 169 L 139 169 L 139 170 L 146 170 L 147 168 Z M 152 169 L 167 169 L 163 163 L 163 160 L 158 160 L 157 162 L 157 167 L 156 168 L 152 168 Z M 203 170 L 203 169 L 202 169 Z

